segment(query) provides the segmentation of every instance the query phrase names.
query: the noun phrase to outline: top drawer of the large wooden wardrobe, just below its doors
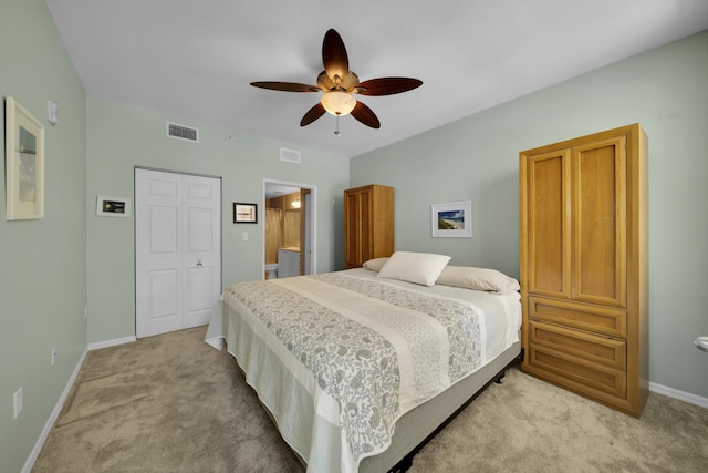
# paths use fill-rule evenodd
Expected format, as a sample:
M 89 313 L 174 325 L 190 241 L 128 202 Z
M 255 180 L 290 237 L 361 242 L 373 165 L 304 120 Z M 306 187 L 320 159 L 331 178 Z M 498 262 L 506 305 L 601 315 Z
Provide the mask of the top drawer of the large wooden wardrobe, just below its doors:
M 618 338 L 627 337 L 627 312 L 608 307 L 530 296 L 529 318 Z

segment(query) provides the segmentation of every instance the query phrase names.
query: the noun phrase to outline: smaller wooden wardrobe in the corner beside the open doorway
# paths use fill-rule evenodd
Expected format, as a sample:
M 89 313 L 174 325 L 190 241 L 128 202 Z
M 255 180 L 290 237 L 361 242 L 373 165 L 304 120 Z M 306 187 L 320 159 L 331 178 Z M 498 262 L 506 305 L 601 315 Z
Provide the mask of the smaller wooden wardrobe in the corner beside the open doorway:
M 393 253 L 394 188 L 372 184 L 344 191 L 345 268 Z

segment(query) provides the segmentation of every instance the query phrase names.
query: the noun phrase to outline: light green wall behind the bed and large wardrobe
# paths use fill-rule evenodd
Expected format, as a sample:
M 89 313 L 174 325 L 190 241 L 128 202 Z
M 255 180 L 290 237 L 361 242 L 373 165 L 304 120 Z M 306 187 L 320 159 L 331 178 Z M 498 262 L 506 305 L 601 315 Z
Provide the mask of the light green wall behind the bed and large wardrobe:
M 708 397 L 693 346 L 708 335 L 708 32 L 358 156 L 350 179 L 396 188 L 397 249 L 518 277 L 519 152 L 632 123 L 649 138 L 649 378 Z M 430 204 L 468 199 L 473 237 L 431 238 Z

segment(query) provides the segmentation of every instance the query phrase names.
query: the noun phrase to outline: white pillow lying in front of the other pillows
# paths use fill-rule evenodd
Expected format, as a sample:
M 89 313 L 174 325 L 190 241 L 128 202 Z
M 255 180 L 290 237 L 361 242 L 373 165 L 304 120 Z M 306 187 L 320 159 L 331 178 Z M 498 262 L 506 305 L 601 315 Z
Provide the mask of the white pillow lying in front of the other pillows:
M 395 251 L 376 277 L 433 286 L 449 260 L 446 255 Z

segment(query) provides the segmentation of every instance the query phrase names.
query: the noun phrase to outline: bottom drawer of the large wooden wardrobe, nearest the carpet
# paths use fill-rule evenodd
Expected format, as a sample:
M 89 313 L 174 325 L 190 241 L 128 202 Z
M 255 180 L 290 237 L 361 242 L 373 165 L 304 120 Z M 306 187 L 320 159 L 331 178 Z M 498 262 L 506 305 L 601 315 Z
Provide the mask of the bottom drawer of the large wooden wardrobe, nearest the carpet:
M 529 371 L 559 385 L 594 397 L 603 392 L 626 399 L 627 376 L 623 370 L 593 363 L 541 345 L 529 346 Z

